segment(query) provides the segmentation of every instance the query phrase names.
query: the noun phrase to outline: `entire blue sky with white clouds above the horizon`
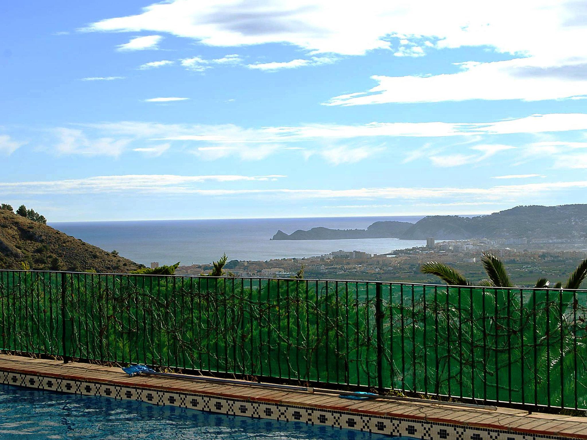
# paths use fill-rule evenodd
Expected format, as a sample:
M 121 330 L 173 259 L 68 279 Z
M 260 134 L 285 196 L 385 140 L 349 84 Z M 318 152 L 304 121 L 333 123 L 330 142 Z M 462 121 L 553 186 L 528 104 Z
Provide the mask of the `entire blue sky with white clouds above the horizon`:
M 5 2 L 0 202 L 52 221 L 585 203 L 587 1 Z

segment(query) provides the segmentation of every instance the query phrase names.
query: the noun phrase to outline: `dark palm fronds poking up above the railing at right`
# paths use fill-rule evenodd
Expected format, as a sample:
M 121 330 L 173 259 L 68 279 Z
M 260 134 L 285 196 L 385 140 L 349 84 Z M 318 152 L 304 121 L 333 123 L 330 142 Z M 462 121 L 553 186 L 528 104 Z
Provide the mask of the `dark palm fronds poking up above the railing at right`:
M 477 283 L 478 286 L 484 287 L 515 287 L 511 282 L 510 276 L 505 270 L 504 263 L 493 255 L 491 252 L 483 252 L 481 254 L 481 263 L 487 273 L 487 279 L 481 280 Z M 436 275 L 441 280 L 450 286 L 473 286 L 474 283 L 469 282 L 458 270 L 451 268 L 444 263 L 428 262 L 422 265 L 420 270 L 423 273 Z M 587 276 L 587 259 L 583 260 L 579 266 L 571 273 L 567 280 L 564 289 L 579 289 L 581 283 Z M 549 281 L 546 278 L 539 278 L 534 287 L 539 289 L 546 289 L 549 286 Z M 558 282 L 554 285 L 554 289 L 561 289 L 562 283 Z

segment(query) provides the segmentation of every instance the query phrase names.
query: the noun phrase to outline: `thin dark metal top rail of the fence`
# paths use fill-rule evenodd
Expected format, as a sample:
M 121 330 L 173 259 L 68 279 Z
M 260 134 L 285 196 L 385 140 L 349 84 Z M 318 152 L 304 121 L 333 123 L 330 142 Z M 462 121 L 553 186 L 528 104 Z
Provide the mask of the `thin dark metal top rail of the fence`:
M 329 283 L 367 283 L 367 284 L 382 284 L 382 285 L 403 285 L 403 286 L 422 286 L 422 287 L 441 287 L 447 289 L 452 287 L 455 289 L 486 289 L 486 290 L 556 290 L 569 292 L 587 292 L 587 289 L 555 289 L 554 287 L 492 287 L 492 286 L 456 286 L 446 284 L 434 283 L 407 283 L 402 281 L 383 281 L 383 280 L 343 280 L 343 279 L 312 279 L 312 278 L 280 278 L 280 277 L 265 277 L 265 276 L 209 276 L 209 275 L 160 275 L 150 273 L 114 273 L 114 272 L 72 272 L 70 270 L 24 270 L 24 269 L 0 269 L 0 272 L 35 272 L 35 273 L 69 273 L 72 275 L 113 275 L 113 276 L 153 276 L 153 277 L 189 277 L 189 278 L 216 278 L 216 279 L 250 279 L 250 280 L 268 280 L 268 281 L 298 281 L 298 282 L 329 282 Z

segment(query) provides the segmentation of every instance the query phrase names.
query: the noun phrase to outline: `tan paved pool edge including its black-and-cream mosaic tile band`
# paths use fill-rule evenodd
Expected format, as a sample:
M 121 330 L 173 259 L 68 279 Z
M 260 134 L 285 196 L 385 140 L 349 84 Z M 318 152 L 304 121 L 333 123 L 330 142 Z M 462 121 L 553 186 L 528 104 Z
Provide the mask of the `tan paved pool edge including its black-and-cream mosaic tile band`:
M 353 401 L 336 394 L 259 388 L 245 383 L 128 377 L 120 368 L 9 355 L 0 355 L 0 381 L 45 390 L 107 395 L 228 415 L 297 420 L 422 439 L 528 440 L 538 436 L 587 439 L 587 418 L 581 417 L 434 402 Z M 110 388 L 110 393 L 105 391 Z

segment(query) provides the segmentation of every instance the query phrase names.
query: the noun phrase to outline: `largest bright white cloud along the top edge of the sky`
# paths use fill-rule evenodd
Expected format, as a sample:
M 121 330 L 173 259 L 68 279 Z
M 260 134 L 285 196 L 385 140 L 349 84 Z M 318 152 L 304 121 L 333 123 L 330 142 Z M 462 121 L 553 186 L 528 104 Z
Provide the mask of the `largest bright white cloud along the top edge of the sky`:
M 137 15 L 92 23 L 87 30 L 165 32 L 210 46 L 284 43 L 342 55 L 393 49 L 393 36 L 400 47 L 489 46 L 498 52 L 565 56 L 577 47 L 563 42 L 585 40 L 577 8 L 572 1 L 551 0 L 176 0 L 147 6 Z

